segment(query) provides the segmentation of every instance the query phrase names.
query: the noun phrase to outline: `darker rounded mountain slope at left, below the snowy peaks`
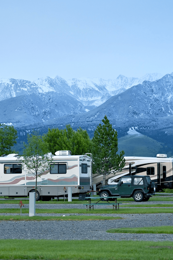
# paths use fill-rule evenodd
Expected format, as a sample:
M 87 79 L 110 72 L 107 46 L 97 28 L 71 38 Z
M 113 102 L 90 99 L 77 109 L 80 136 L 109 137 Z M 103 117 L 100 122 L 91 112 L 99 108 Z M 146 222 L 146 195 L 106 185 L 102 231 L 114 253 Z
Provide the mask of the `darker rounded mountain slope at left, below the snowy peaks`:
M 64 92 L 57 94 L 54 91 L 24 94 L 0 101 L 0 110 L 0 122 L 12 123 L 15 126 L 31 125 L 86 112 L 81 102 Z

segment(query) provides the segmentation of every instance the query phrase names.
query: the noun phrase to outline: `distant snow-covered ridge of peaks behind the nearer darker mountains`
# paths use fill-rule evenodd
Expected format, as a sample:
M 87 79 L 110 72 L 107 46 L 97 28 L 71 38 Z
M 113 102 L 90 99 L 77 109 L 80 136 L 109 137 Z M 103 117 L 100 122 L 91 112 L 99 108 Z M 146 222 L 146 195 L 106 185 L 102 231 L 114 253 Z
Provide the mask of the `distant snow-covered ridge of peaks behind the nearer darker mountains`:
M 80 101 L 86 109 L 93 109 L 111 96 L 124 92 L 134 85 L 142 83 L 144 80 L 160 79 L 162 76 L 157 73 L 146 74 L 144 77 L 127 78 L 119 75 L 117 79 L 104 80 L 99 78 L 79 78 L 65 81 L 61 77 L 50 77 L 37 79 L 34 82 L 23 79 L 0 79 L 0 101 L 17 97 L 23 94 L 64 92 L 65 94 Z

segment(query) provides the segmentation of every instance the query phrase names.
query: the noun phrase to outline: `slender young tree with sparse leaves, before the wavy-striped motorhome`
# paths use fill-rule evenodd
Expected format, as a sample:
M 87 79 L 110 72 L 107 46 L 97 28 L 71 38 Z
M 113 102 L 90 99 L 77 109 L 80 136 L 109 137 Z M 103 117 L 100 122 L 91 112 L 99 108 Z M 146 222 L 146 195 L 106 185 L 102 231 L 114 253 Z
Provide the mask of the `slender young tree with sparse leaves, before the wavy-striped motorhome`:
M 52 156 L 48 154 L 48 146 L 42 140 L 38 132 L 27 135 L 28 143 L 24 143 L 25 149 L 23 156 L 19 157 L 27 170 L 35 175 L 35 192 L 37 198 L 37 177 L 40 177 L 45 171 L 49 170 L 49 164 L 52 162 Z

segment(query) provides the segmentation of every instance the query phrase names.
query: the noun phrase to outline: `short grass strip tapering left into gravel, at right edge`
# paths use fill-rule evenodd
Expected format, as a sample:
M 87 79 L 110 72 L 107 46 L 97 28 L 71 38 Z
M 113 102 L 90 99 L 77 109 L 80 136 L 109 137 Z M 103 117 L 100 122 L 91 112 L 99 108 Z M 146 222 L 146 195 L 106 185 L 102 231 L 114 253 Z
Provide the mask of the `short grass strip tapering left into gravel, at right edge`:
M 106 232 L 108 232 L 108 233 L 128 233 L 128 234 L 173 234 L 173 226 L 120 228 L 120 229 L 109 229 Z

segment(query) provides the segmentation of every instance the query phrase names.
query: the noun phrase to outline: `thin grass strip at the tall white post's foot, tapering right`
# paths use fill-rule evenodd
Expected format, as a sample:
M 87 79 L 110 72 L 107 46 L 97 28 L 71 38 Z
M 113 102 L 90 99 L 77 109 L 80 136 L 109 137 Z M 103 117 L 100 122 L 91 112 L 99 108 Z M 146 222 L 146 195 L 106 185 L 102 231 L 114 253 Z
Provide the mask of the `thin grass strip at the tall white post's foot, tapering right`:
M 29 217 L 29 216 L 0 216 L 0 221 L 1 220 L 25 220 L 25 221 L 30 221 L 30 220 L 37 220 L 37 221 L 42 221 L 42 220 L 74 220 L 74 221 L 82 221 L 82 220 L 116 220 L 116 219 L 123 219 L 121 217 L 107 217 L 107 216 L 34 216 L 34 217 Z

